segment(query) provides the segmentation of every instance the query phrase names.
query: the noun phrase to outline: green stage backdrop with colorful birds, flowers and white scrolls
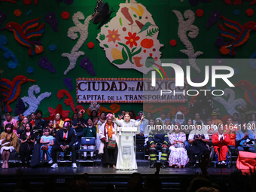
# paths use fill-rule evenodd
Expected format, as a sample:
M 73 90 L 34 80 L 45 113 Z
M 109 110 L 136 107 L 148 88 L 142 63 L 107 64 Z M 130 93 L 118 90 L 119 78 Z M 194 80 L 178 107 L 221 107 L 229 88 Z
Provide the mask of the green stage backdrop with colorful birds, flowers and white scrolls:
M 172 58 L 183 69 L 191 66 L 194 82 L 204 80 L 206 65 L 242 59 L 232 66 L 235 75 L 230 81 L 236 87 L 219 81 L 216 89 L 225 94 L 212 98 L 222 116 L 245 105 L 255 111 L 255 4 L 255 0 L 0 0 L 3 109 L 13 115 L 41 109 L 44 117 L 53 117 L 56 111 L 72 117 L 76 107 L 89 107 L 77 103 L 78 78 L 143 78 L 160 70 L 160 59 Z M 175 78 L 173 70 L 166 76 Z M 210 81 L 207 86 L 215 89 Z M 191 99 L 195 98 L 189 96 L 186 103 L 147 103 L 144 109 L 188 114 Z M 102 111 L 143 109 L 142 103 L 125 101 L 101 105 Z

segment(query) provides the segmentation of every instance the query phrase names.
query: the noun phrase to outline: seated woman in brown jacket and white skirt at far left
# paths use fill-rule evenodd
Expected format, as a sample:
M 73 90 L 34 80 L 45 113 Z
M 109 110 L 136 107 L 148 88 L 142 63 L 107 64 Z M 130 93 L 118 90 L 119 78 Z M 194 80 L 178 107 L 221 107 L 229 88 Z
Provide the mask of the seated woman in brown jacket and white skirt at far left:
M 2 154 L 2 168 L 8 168 L 8 161 L 12 151 L 19 152 L 20 143 L 16 133 L 13 132 L 14 126 L 11 123 L 5 125 L 5 132 L 0 136 L 0 152 Z

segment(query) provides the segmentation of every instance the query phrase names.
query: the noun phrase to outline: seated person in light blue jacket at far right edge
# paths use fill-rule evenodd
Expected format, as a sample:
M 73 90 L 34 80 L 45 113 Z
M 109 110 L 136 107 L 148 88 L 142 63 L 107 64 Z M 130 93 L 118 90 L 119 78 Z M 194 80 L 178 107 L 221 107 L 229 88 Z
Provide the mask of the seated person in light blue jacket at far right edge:
M 242 123 L 241 130 L 236 132 L 236 143 L 238 151 L 249 151 L 255 153 L 254 135 L 247 123 Z

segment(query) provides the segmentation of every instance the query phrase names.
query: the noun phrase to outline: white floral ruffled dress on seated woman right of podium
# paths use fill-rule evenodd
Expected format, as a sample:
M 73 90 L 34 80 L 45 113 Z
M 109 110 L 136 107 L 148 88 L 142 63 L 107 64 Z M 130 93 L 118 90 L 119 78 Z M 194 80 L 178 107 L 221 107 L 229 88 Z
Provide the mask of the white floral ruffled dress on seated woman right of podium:
M 175 148 L 174 141 L 181 141 L 183 144 L 186 141 L 186 135 L 183 132 L 172 133 L 169 135 L 169 142 L 172 146 L 169 147 L 169 166 L 185 166 L 188 162 L 187 150 L 185 148 Z

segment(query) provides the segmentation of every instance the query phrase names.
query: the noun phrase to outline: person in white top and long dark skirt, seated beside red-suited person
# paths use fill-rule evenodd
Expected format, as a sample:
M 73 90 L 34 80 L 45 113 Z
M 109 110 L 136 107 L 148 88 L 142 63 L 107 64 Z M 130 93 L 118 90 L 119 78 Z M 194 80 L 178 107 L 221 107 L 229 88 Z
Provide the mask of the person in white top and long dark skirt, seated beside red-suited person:
M 196 122 L 195 130 L 191 130 L 188 136 L 188 142 L 192 146 L 188 148 L 187 154 L 192 163 L 191 167 L 194 168 L 202 155 L 209 154 L 209 148 L 206 145 L 209 142 L 209 136 L 206 130 L 203 129 L 201 122 Z

